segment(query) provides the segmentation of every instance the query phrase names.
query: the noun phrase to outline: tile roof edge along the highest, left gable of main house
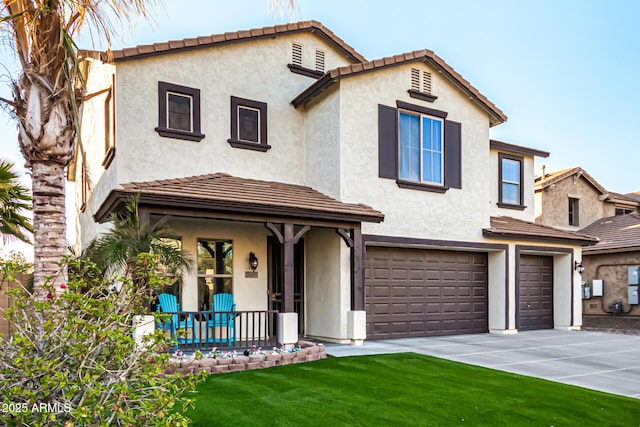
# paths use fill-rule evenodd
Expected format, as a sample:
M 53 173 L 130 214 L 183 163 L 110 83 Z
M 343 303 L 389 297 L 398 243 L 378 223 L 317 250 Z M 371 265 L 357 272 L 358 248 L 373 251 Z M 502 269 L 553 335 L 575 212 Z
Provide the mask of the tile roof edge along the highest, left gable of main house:
M 349 46 L 347 43 L 345 43 L 344 40 L 336 36 L 331 30 L 317 21 L 302 21 L 291 24 L 275 25 L 271 27 L 233 31 L 224 34 L 212 34 L 211 36 L 205 37 L 172 40 L 164 43 L 154 43 L 152 45 L 141 45 L 131 48 L 125 48 L 122 50 L 114 50 L 112 52 L 112 58 L 115 62 L 125 61 L 149 55 L 158 55 L 161 53 L 170 53 L 182 51 L 185 49 L 214 46 L 221 43 L 248 41 L 257 38 L 273 37 L 278 34 L 295 33 L 300 31 L 316 32 L 320 36 L 324 37 L 329 43 L 332 43 L 338 49 L 342 50 L 342 52 L 344 52 L 353 61 L 365 61 L 364 56 L 356 52 L 353 47 Z M 195 42 L 195 40 L 197 40 L 197 43 Z

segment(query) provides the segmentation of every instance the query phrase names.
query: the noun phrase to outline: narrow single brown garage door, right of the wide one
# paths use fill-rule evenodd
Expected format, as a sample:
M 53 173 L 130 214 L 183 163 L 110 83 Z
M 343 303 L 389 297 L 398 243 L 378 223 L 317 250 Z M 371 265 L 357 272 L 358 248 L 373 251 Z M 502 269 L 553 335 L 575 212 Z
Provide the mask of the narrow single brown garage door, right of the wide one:
M 520 256 L 518 329 L 553 328 L 553 257 Z

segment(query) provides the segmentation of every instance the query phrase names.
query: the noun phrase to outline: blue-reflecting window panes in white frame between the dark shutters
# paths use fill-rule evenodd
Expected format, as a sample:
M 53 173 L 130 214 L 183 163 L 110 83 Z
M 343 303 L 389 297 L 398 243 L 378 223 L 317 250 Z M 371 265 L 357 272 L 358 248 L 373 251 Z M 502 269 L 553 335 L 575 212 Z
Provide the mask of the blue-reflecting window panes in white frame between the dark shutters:
M 443 185 L 443 120 L 404 111 L 399 120 L 399 178 Z

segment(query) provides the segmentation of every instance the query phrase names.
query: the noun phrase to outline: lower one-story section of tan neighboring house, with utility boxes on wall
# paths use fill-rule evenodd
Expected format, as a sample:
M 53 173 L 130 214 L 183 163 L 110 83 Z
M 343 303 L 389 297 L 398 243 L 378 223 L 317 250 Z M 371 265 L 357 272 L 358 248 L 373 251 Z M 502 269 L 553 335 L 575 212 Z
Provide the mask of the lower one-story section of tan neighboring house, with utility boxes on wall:
M 596 245 L 582 251 L 582 277 L 589 284 L 583 314 L 640 316 L 640 214 L 602 218 L 582 229 L 581 233 L 600 239 Z M 601 280 L 602 286 L 594 285 L 594 280 Z

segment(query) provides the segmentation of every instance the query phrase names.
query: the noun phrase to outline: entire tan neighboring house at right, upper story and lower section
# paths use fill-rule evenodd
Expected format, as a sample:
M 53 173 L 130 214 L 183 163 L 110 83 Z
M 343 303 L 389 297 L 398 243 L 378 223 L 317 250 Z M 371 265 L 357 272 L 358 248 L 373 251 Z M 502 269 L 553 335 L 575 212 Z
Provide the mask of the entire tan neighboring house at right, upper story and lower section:
M 633 194 L 605 190 L 579 167 L 543 171 L 534 190 L 536 222 L 599 239 L 582 254 L 583 314 L 639 316 L 640 201 Z

